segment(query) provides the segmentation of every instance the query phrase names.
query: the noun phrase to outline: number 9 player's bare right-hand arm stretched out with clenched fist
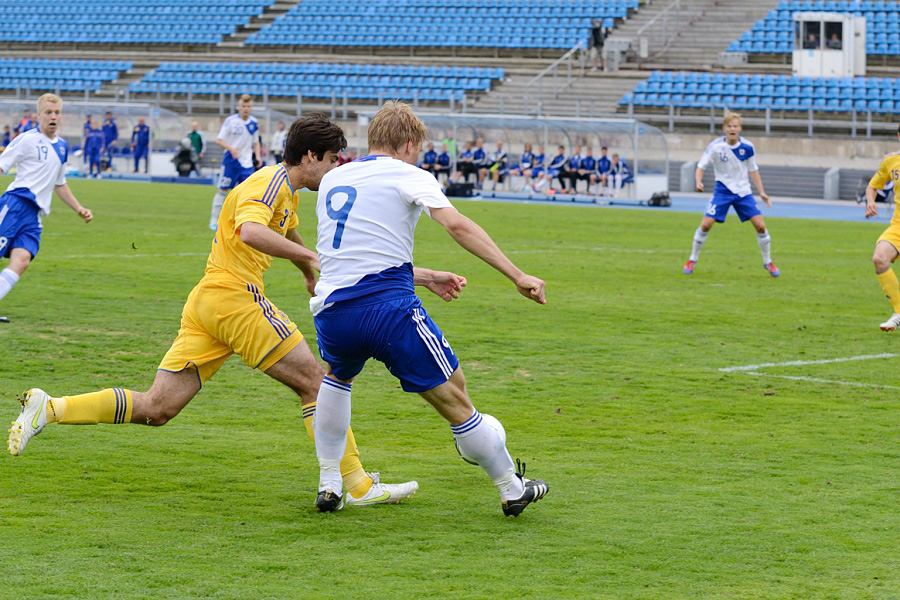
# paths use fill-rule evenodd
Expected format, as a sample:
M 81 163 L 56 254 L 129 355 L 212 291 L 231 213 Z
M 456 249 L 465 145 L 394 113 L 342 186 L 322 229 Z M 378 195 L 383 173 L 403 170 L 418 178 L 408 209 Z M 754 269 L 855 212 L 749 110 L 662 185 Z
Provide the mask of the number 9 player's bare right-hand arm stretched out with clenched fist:
M 538 304 L 547 303 L 544 282 L 514 265 L 475 221 L 455 208 L 432 208 L 430 212 L 431 218 L 440 223 L 457 244 L 505 275 L 516 285 L 520 294 Z

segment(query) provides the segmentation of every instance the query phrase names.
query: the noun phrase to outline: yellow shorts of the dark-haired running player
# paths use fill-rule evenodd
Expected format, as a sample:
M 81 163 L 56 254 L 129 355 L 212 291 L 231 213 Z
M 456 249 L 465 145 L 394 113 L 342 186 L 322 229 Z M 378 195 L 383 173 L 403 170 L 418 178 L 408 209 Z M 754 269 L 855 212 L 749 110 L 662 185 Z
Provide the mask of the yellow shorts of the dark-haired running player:
M 185 302 L 178 336 L 159 368 L 194 367 L 203 384 L 232 354 L 265 371 L 302 341 L 297 325 L 257 286 L 204 277 Z

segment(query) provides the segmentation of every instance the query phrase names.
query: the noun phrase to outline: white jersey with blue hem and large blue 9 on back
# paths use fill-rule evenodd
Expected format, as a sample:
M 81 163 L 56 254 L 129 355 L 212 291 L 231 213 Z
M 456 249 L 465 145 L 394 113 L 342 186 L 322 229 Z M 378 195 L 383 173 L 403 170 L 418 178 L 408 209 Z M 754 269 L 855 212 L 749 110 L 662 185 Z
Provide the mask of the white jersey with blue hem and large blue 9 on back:
M 322 270 L 309 301 L 313 314 L 404 282 L 411 289 L 422 210 L 452 207 L 434 175 L 389 156 L 366 156 L 326 173 L 316 202 Z

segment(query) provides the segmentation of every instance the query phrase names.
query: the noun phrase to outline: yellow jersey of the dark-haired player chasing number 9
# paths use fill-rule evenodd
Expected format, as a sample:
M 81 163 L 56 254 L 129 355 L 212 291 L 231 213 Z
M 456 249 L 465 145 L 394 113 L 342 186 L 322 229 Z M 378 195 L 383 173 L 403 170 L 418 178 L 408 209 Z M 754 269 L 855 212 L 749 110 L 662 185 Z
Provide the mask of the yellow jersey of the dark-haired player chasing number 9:
M 226 275 L 263 289 L 272 256 L 241 241 L 244 223 L 259 223 L 285 236 L 299 223 L 299 197 L 281 165 L 263 167 L 231 190 L 219 213 L 218 229 L 206 261 L 206 276 Z

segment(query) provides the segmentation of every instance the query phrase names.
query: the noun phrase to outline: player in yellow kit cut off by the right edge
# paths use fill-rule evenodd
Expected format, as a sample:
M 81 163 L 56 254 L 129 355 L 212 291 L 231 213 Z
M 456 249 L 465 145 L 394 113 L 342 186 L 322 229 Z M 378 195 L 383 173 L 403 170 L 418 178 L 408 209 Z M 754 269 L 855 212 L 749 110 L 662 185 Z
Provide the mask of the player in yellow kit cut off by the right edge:
M 897 140 L 900 141 L 900 127 L 897 128 Z M 869 181 L 869 185 L 866 186 L 866 218 L 875 216 L 877 190 L 884 188 L 888 181 L 896 184 L 898 179 L 900 179 L 900 152 L 893 152 L 884 157 L 881 166 L 878 167 Z M 891 264 L 897 260 L 897 256 L 900 254 L 898 248 L 900 248 L 900 211 L 897 210 L 895 203 L 891 224 L 875 242 L 875 252 L 872 254 L 875 276 L 878 277 L 878 283 L 881 284 L 884 295 L 887 296 L 894 309 L 891 317 L 879 325 L 882 331 L 893 331 L 900 327 L 900 284 L 897 282 L 897 275 L 891 268 Z

